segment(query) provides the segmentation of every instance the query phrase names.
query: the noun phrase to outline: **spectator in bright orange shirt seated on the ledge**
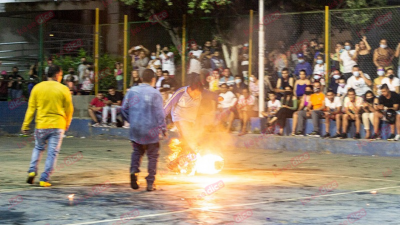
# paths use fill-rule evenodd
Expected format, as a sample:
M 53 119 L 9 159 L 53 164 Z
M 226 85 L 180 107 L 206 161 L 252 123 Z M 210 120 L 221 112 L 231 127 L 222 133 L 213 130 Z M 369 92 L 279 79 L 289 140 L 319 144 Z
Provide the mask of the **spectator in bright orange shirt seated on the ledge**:
M 311 113 L 311 119 L 313 121 L 314 131 L 307 136 L 311 137 L 320 137 L 319 132 L 319 119 L 323 118 L 324 112 L 322 110 L 325 109 L 325 95 L 321 91 L 321 83 L 314 83 L 314 93 L 310 97 L 310 104 L 307 105 L 308 111 Z M 298 112 L 298 120 L 297 123 L 297 133 L 296 135 L 302 135 L 304 133 L 304 123 L 307 119 L 306 111 Z

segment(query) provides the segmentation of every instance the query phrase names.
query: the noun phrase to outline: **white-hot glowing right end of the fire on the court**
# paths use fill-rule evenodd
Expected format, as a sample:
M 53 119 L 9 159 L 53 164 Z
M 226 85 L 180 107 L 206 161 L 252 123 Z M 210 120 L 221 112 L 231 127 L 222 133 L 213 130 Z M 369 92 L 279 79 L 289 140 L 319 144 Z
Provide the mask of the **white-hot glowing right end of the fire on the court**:
M 224 167 L 224 159 L 218 155 L 205 155 L 197 154 L 196 172 L 203 174 L 216 174 L 219 173 Z

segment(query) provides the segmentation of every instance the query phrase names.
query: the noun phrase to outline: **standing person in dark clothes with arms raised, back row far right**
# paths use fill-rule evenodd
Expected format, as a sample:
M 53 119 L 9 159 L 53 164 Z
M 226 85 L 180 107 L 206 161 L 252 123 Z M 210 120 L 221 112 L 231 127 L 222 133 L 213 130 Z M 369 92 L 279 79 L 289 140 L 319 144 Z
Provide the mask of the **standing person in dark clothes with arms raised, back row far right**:
M 359 44 L 356 44 L 356 52 L 354 56 L 357 60 L 357 64 L 360 66 L 360 70 L 371 76 L 375 73 L 375 67 L 371 63 L 371 46 L 369 46 L 366 36 L 363 36 L 362 41 L 360 41 Z

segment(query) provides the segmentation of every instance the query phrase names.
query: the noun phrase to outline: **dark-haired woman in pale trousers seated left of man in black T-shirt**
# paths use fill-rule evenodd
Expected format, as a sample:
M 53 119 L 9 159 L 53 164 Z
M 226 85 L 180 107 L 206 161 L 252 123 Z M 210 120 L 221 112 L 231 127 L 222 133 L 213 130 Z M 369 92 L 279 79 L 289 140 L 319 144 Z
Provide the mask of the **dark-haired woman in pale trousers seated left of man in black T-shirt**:
M 365 129 L 365 139 L 369 139 L 371 137 L 369 122 L 371 121 L 372 124 L 374 123 L 374 113 L 376 111 L 376 105 L 378 105 L 378 98 L 374 96 L 374 93 L 372 91 L 367 91 L 367 93 L 365 93 L 363 104 L 364 112 L 362 114 L 362 122 Z

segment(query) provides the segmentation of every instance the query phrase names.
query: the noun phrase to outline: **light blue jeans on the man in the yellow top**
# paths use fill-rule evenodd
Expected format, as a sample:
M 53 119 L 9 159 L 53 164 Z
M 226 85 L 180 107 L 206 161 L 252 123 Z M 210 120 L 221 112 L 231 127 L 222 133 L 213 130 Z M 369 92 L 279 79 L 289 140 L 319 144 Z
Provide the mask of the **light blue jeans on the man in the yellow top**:
M 35 130 L 35 148 L 32 152 L 31 164 L 29 166 L 29 173 L 35 172 L 37 174 L 38 165 L 42 158 L 43 151 L 45 150 L 47 142 L 47 158 L 44 167 L 44 172 L 40 177 L 40 181 L 50 180 L 56 163 L 57 156 L 61 149 L 62 139 L 64 137 L 63 129 L 36 129 Z

